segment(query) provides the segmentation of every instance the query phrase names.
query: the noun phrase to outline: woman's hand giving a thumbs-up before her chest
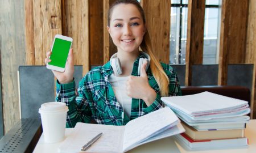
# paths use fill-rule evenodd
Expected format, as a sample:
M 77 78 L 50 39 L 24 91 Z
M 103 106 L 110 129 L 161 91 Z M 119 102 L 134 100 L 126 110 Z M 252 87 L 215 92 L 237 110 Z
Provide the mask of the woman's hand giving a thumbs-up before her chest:
M 147 62 L 143 63 L 141 67 L 141 76 L 129 76 L 126 84 L 126 92 L 129 97 L 142 99 L 149 106 L 154 102 L 156 92 L 148 83 L 146 65 Z

